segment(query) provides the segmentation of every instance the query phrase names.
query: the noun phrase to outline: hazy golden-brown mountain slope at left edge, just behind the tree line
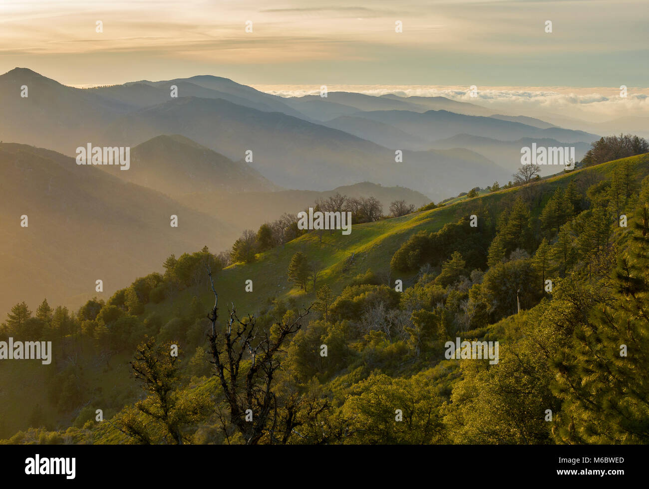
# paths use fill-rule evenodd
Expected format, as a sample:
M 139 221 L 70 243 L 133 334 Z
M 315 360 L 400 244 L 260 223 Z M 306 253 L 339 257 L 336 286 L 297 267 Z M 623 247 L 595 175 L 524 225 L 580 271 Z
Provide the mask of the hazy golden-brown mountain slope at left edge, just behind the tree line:
M 220 251 L 238 236 L 214 216 L 51 150 L 0 144 L 0 174 L 0 312 L 45 297 L 75 306 L 93 295 L 107 299 L 130 278 L 160 269 L 170 253 Z M 103 293 L 95 291 L 98 279 Z

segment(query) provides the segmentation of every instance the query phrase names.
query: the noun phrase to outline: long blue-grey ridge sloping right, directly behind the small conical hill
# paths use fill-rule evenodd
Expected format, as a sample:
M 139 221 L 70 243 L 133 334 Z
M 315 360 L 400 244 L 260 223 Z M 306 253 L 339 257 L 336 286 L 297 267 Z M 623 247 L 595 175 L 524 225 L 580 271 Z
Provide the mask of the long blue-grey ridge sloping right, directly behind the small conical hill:
M 282 187 L 328 190 L 368 179 L 413 188 L 433 199 L 456 194 L 467 183 L 501 172 L 472 154 L 395 150 L 345 131 L 278 112 L 244 108 L 223 99 L 177 98 L 117 119 L 95 139 L 102 145 L 135 146 L 159 134 L 180 134 L 232 160 L 252 152 L 252 168 Z M 442 170 L 443 168 L 443 170 Z M 502 177 L 502 176 L 501 176 Z M 471 188 L 471 187 L 469 187 Z

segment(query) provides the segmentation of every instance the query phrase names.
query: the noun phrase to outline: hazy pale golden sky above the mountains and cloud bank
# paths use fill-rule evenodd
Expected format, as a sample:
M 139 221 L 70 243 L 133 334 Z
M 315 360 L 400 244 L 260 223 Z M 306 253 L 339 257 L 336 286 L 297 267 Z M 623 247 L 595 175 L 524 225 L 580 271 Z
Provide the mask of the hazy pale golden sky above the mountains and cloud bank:
M 648 24 L 647 0 L 0 0 L 0 73 L 28 67 L 70 85 L 217 74 L 250 85 L 647 87 Z

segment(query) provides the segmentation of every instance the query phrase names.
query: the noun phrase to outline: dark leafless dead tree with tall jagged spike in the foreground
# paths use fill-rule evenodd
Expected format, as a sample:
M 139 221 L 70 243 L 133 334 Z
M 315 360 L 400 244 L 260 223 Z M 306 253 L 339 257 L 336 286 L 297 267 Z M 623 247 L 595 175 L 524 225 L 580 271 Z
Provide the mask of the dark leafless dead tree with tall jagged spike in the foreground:
M 208 276 L 214 292 L 214 307 L 207 316 L 212 322 L 212 332 L 208 336 L 211 363 L 215 365 L 215 376 L 223 388 L 230 422 L 243 435 L 246 444 L 257 444 L 266 433 L 272 443 L 273 433 L 278 429 L 278 400 L 271 385 L 281 365 L 279 356 L 284 352 L 281 347 L 300 330 L 300 321 L 311 308 L 299 313 L 294 320 L 276 323 L 272 332 L 268 332 L 258 327 L 251 315 L 240 321 L 233 304 L 225 331 L 221 332 L 216 325 L 219 295 L 209 268 Z M 241 364 L 244 356 L 250 360 L 249 367 L 247 363 Z M 292 428 L 284 426 L 281 431 L 287 429 L 290 432 Z

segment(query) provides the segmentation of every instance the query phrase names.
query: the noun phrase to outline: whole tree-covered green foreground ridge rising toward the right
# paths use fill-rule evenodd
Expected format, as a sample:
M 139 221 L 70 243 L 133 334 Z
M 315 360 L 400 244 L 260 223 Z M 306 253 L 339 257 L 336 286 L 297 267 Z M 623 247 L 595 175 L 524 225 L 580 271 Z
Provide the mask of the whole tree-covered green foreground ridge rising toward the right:
M 52 421 L 45 413 L 32 413 L 32 426 L 42 428 L 9 440 L 646 442 L 647 163 L 646 155 L 628 158 L 363 224 L 350 235 L 364 240 L 354 260 L 334 245 L 345 239 L 339 234 L 320 239 L 309 233 L 262 253 L 253 264 L 223 270 L 207 249 L 170 257 L 164 275 L 138 279 L 108 301 L 89 301 L 76 313 L 51 312 L 43 304 L 34 318 L 26 304 L 17 306 L 3 334 L 24 335 L 32 331 L 27 327 L 42 327 L 60 338 L 51 382 L 58 389 L 59 415 Z M 473 215 L 477 227 L 470 225 Z M 383 229 L 391 229 L 395 239 L 384 236 Z M 376 266 L 379 256 L 389 258 L 389 249 L 392 266 Z M 238 393 L 267 387 L 272 395 L 247 402 L 241 394 L 232 404 L 227 391 L 232 385 L 224 386 L 210 363 L 214 352 L 206 341 L 211 328 L 206 315 L 207 299 L 214 295 L 206 266 L 214 273 L 219 304 L 240 299 L 235 305 L 243 310 L 241 302 L 259 302 L 254 291 L 244 291 L 243 277 L 264 293 L 259 270 L 271 271 L 272 280 L 285 286 L 289 273 L 296 283 L 308 280 L 298 273 L 302 258 L 289 272 L 297 251 L 323 261 L 317 283 L 308 282 L 306 291 L 296 286 L 276 293 L 251 310 L 254 318 L 230 322 L 232 316 L 219 313 L 214 320 L 221 335 L 232 324 L 247 331 L 253 320 L 255 328 L 267 332 L 240 347 L 237 343 L 233 351 L 241 357 L 235 384 Z M 321 256 L 314 256 L 318 251 Z M 401 292 L 395 290 L 396 279 L 403 281 Z M 552 280 L 550 290 L 546 280 Z M 256 299 L 245 299 L 246 294 Z M 310 313 L 296 321 L 311 302 Z M 247 385 L 251 352 L 263 338 L 276 345 L 287 325 L 290 332 L 271 359 L 278 367 L 270 381 L 263 372 Z M 145 334 L 155 343 L 138 347 Z M 499 341 L 500 361 L 445 359 L 445 341 L 457 336 Z M 167 342 L 186 352 L 173 365 L 166 363 Z M 108 399 L 93 389 L 81 362 L 63 360 L 101 353 L 114 369 L 117 361 L 128 366 L 134 351 L 135 365 L 161 366 L 165 397 L 145 389 L 142 398 L 130 372 L 130 380 L 120 380 L 123 398 Z M 160 410 L 164 404 L 171 406 L 166 415 Z M 241 413 L 233 413 L 233 405 L 239 410 L 251 406 L 253 422 L 265 420 L 254 436 L 247 436 L 247 426 L 241 429 Z M 108 422 L 95 421 L 96 409 L 104 410 Z M 395 418 L 397 410 L 401 420 Z

